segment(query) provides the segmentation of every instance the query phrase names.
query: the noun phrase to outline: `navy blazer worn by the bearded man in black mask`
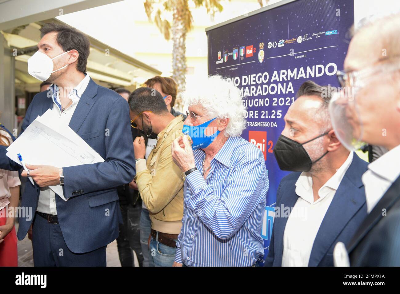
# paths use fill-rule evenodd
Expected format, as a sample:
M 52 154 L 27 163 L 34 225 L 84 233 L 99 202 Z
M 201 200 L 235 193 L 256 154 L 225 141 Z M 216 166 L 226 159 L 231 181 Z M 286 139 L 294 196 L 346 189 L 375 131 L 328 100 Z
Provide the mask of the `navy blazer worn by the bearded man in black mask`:
M 346 244 L 367 215 L 364 185 L 361 176 L 368 163 L 354 153 L 353 161 L 344 174 L 312 246 L 308 266 L 333 266 L 333 249 L 337 242 Z M 296 181 L 300 172 L 285 176 L 276 194 L 276 206 L 293 207 L 299 196 Z M 288 217 L 275 217 L 268 256 L 264 266 L 281 266 L 283 235 Z

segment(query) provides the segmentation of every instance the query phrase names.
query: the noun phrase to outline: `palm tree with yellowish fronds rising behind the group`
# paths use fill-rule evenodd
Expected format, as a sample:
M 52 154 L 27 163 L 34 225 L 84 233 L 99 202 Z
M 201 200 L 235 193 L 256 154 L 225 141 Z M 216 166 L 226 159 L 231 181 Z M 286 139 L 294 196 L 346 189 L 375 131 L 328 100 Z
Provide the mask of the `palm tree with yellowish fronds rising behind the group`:
M 205 6 L 212 17 L 222 11 L 221 0 L 190 0 L 195 7 Z M 178 84 L 179 92 L 185 90 L 186 79 L 186 34 L 193 27 L 192 12 L 189 0 L 145 0 L 144 9 L 150 22 L 154 22 L 166 40 L 172 38 L 172 78 Z M 172 13 L 172 26 L 166 19 L 166 14 Z M 182 104 L 180 96 L 175 104 Z

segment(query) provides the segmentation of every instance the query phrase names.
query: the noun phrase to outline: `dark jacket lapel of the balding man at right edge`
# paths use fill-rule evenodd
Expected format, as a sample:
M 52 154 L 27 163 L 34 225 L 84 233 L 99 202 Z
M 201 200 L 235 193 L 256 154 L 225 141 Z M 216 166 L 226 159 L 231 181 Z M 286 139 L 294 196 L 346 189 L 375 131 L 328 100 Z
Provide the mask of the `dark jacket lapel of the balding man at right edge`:
M 400 200 L 400 176 L 393 182 L 392 186 L 385 192 L 382 198 L 378 201 L 372 211 L 368 214 L 368 216 L 361 223 L 358 228 L 356 234 L 354 234 L 352 240 L 347 244 L 348 252 L 352 252 L 352 250 L 358 245 L 358 243 L 364 238 L 366 234 L 379 222 L 379 220 L 383 217 L 383 210 L 388 210 Z

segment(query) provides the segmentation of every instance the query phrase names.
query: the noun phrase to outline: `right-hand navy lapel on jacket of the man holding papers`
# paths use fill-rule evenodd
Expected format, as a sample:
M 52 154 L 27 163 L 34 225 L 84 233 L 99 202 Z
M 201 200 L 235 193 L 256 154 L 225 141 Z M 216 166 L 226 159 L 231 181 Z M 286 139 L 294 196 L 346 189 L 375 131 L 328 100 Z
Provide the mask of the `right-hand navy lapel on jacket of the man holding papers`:
M 96 102 L 93 97 L 97 94 L 97 88 L 97 84 L 92 80 L 92 78 L 90 78 L 88 86 L 80 97 L 78 104 L 76 104 L 76 109 L 74 111 L 74 114 L 72 115 L 70 124 L 68 125 L 76 133 L 82 126 L 82 123 L 88 115 L 94 102 Z

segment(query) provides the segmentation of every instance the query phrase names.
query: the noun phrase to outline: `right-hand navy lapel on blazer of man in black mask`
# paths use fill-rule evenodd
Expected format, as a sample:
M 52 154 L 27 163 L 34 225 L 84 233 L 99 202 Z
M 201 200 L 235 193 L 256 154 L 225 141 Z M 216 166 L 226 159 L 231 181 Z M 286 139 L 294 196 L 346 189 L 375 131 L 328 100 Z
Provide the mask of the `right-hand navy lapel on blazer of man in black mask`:
M 360 162 L 362 159 L 354 153 L 353 161 L 344 174 L 318 229 L 308 266 L 318 266 L 340 232 L 366 202 L 360 176 L 360 171 L 364 170 L 360 168 Z

